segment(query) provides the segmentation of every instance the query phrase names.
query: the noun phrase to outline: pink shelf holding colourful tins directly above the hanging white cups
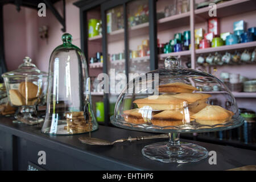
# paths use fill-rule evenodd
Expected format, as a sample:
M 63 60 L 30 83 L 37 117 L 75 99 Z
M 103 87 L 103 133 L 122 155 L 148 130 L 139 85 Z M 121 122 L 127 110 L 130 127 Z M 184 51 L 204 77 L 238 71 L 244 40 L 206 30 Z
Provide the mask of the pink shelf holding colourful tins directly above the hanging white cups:
M 248 42 L 248 43 L 240 43 L 240 44 L 234 44 L 230 46 L 220 46 L 220 47 L 211 47 L 206 49 L 196 49 L 197 54 L 201 53 L 210 53 L 210 52 L 224 52 L 224 51 L 230 51 L 230 50 L 237 50 L 237 49 L 245 49 L 250 47 L 256 47 L 256 41 L 254 42 Z

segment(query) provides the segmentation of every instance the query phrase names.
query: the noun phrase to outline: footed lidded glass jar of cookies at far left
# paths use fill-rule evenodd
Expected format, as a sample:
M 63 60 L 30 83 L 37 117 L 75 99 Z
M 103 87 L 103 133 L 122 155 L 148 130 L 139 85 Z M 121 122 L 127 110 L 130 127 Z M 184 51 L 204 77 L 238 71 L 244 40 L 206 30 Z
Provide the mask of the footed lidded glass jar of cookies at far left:
M 2 77 L 11 106 L 18 107 L 14 117 L 35 125 L 43 121 L 36 116 L 36 110 L 38 105 L 44 105 L 48 73 L 40 71 L 28 56 L 23 61 L 18 69 L 3 73 Z

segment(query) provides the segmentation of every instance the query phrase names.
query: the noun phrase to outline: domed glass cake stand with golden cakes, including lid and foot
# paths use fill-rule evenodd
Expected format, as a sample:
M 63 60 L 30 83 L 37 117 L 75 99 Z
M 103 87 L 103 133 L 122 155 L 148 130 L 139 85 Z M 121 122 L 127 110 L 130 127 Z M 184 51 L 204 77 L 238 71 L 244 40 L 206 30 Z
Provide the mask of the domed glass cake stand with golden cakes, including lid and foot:
M 180 142 L 180 133 L 229 130 L 241 126 L 234 96 L 217 77 L 183 68 L 169 56 L 164 68 L 129 80 L 111 122 L 123 129 L 166 133 L 167 142 L 144 146 L 142 154 L 164 163 L 197 162 L 206 148 Z

